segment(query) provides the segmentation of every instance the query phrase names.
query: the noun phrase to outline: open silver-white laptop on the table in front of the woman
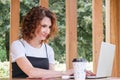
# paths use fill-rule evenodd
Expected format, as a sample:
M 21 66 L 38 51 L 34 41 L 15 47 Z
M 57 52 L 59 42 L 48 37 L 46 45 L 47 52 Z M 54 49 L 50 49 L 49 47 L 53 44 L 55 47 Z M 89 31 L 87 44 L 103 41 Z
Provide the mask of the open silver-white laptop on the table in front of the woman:
M 86 78 L 106 78 L 112 74 L 112 66 L 114 61 L 115 45 L 102 42 L 98 60 L 96 76 L 87 76 Z

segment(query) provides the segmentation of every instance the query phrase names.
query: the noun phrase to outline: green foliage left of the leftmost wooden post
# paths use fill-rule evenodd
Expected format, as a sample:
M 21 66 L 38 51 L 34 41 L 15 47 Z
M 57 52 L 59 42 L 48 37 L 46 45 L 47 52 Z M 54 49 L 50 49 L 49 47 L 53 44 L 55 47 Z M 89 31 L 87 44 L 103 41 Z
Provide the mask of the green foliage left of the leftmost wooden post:
M 0 0 L 0 60 L 6 60 L 9 55 L 10 1 Z M 8 34 L 7 34 L 8 33 Z M 6 48 L 7 47 L 7 48 Z M 8 52 L 7 52 L 8 51 Z

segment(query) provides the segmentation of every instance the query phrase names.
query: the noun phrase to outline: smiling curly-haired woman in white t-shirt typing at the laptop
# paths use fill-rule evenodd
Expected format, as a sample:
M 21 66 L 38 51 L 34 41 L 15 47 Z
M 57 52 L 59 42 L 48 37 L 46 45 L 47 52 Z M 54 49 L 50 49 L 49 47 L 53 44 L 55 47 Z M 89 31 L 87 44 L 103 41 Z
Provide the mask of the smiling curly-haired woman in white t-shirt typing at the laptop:
M 73 74 L 72 69 L 54 70 L 54 51 L 47 41 L 56 32 L 56 17 L 50 10 L 36 6 L 27 13 L 22 23 L 22 38 L 11 45 L 12 77 L 50 78 Z

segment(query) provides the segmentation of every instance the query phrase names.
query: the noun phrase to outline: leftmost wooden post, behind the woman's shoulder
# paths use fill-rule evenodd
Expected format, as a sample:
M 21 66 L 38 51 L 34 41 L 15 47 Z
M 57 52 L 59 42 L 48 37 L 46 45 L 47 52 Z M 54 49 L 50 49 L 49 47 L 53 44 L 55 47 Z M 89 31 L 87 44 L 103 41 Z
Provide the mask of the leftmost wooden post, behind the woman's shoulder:
M 19 0 L 11 0 L 10 3 L 10 45 L 19 36 L 19 14 L 20 14 Z M 11 57 L 10 57 L 11 62 Z M 12 80 L 12 65 L 10 63 L 10 80 Z

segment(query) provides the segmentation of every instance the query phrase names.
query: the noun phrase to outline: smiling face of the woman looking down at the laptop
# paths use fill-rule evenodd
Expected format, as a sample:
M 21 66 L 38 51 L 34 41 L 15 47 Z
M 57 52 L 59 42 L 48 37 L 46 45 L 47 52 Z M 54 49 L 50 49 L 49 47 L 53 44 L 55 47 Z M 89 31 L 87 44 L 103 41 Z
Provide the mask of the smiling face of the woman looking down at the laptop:
M 51 20 L 48 17 L 44 17 L 41 24 L 36 29 L 36 37 L 39 40 L 45 40 L 50 34 L 51 30 Z

